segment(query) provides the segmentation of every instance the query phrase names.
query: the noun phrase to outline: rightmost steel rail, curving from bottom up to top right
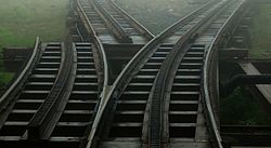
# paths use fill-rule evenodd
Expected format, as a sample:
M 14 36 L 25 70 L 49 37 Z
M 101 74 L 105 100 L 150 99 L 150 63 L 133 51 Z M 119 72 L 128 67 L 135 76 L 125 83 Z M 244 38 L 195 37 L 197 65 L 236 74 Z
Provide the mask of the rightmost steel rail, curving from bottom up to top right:
M 204 94 L 204 106 L 205 106 L 205 115 L 207 116 L 207 123 L 209 125 L 209 131 L 211 133 L 211 139 L 214 140 L 212 144 L 215 144 L 215 147 L 217 148 L 223 148 L 222 146 L 222 138 L 219 133 L 219 127 L 217 125 L 216 119 L 215 119 L 215 113 L 212 110 L 212 105 L 211 105 L 211 96 L 210 96 L 210 72 L 211 72 L 211 63 L 214 63 L 214 57 L 215 57 L 215 52 L 217 51 L 218 48 L 218 42 L 219 39 L 221 39 L 223 31 L 231 25 L 234 16 L 237 14 L 237 11 L 241 9 L 242 4 L 241 3 L 234 12 L 231 14 L 231 16 L 228 18 L 228 21 L 223 24 L 221 29 L 218 31 L 217 36 L 215 37 L 215 40 L 211 42 L 209 45 L 209 49 L 207 50 L 206 56 L 205 56 L 205 62 L 204 62 L 204 69 L 203 69 L 203 94 Z

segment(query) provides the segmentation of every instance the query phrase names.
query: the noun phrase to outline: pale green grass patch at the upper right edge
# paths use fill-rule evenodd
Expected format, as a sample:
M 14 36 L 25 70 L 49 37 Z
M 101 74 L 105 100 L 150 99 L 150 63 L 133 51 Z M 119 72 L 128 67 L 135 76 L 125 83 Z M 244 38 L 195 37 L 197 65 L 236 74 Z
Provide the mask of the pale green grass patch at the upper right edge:
M 271 4 L 264 3 L 259 5 L 259 12 L 253 16 L 251 57 L 271 57 Z

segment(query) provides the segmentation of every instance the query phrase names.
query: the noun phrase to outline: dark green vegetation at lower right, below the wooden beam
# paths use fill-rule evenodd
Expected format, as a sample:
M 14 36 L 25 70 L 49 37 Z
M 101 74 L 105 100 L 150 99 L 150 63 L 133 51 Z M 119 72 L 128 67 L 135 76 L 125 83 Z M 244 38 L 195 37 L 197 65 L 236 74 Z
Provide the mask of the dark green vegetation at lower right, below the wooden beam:
M 237 88 L 227 98 L 221 98 L 221 123 L 241 125 L 268 125 L 271 120 L 260 104 L 247 91 Z

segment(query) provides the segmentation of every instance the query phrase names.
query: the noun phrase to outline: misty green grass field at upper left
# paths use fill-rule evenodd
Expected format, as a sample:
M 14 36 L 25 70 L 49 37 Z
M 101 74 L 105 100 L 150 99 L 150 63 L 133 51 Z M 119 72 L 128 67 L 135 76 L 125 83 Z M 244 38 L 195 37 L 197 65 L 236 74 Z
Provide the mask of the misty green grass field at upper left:
M 69 0 L 0 0 L 0 57 L 4 46 L 33 46 L 37 36 L 42 41 L 63 41 L 67 35 Z M 13 73 L 0 62 L 0 88 Z

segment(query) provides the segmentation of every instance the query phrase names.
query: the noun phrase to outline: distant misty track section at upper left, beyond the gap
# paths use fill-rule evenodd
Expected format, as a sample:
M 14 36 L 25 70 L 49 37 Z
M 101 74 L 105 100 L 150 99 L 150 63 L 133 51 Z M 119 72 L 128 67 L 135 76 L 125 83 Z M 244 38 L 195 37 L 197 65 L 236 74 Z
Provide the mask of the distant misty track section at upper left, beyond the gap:
M 77 13 L 83 12 L 102 43 L 145 44 L 154 36 L 111 0 L 76 0 Z M 83 23 L 85 24 L 85 23 Z M 79 35 L 88 38 L 81 25 Z M 91 32 L 93 33 L 93 32 Z

